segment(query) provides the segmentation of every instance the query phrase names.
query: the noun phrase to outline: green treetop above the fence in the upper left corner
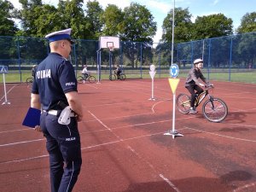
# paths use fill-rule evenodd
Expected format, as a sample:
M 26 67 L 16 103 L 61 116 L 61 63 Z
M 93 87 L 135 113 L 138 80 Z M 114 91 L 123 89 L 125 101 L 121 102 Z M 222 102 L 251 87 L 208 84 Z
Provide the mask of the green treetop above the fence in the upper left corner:
M 15 26 L 14 18 L 15 8 L 9 1 L 0 0 L 0 36 L 14 36 L 18 31 Z

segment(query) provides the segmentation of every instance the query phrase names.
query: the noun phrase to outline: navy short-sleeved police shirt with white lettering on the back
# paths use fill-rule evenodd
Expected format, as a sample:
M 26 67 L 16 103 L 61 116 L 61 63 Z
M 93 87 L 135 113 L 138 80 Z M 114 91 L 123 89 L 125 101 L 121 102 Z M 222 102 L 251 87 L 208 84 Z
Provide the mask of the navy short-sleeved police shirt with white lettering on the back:
M 68 105 L 65 93 L 78 91 L 77 79 L 70 61 L 57 53 L 50 53 L 36 70 L 32 93 L 39 94 L 42 109 L 60 109 L 62 101 Z

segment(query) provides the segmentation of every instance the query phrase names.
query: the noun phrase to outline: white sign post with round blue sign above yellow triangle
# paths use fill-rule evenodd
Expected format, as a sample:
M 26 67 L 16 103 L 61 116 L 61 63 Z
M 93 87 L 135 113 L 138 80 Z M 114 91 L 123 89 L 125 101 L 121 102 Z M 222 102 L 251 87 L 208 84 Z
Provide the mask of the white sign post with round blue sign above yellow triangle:
M 177 78 L 179 69 L 176 64 L 172 64 L 170 67 L 170 75 L 172 78 L 169 79 L 169 84 L 172 89 L 172 94 L 173 94 L 173 106 L 172 106 L 172 131 L 167 131 L 164 135 L 166 136 L 172 136 L 172 138 L 175 137 L 181 137 L 183 134 L 179 133 L 178 131 L 175 130 L 175 106 L 176 106 L 176 90 L 177 90 L 177 84 L 179 83 L 179 79 Z

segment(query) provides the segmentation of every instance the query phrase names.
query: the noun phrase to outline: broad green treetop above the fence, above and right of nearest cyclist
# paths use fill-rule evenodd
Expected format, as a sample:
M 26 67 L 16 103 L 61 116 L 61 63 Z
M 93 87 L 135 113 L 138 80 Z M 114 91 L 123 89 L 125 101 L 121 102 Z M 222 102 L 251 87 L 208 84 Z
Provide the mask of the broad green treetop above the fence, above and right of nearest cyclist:
M 217 38 L 233 33 L 233 20 L 223 14 L 198 16 L 193 26 L 193 39 Z

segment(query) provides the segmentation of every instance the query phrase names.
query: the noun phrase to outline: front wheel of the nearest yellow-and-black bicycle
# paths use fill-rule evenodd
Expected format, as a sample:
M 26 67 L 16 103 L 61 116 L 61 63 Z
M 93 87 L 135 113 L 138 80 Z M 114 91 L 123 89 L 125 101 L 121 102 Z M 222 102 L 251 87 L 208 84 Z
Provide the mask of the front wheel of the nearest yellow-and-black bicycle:
M 207 100 L 202 106 L 202 113 L 211 122 L 219 123 L 228 115 L 228 106 L 218 98 Z

